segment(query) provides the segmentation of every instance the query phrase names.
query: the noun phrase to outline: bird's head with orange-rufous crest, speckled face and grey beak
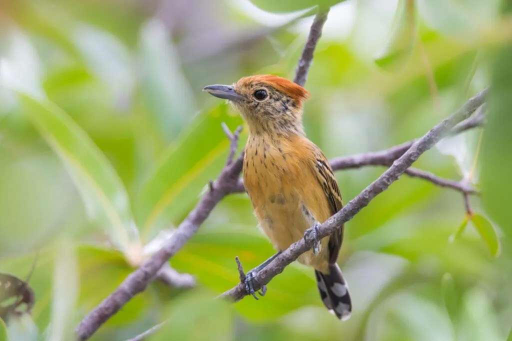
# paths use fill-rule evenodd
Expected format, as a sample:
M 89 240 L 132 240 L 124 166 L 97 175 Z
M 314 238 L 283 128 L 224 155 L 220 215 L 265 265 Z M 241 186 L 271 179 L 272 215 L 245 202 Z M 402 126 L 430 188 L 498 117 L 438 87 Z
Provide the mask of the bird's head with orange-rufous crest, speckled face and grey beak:
M 303 134 L 302 105 L 309 93 L 286 78 L 249 76 L 229 86 L 217 84 L 203 90 L 233 104 L 251 134 Z

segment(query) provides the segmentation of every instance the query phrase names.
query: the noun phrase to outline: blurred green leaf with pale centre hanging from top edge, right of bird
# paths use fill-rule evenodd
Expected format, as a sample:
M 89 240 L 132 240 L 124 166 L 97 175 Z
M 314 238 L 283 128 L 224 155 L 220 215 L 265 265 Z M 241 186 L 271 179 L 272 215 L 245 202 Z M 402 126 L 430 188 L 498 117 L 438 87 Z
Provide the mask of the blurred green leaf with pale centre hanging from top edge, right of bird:
M 387 70 L 404 67 L 413 51 L 416 32 L 414 0 L 399 0 L 389 41 L 375 63 Z

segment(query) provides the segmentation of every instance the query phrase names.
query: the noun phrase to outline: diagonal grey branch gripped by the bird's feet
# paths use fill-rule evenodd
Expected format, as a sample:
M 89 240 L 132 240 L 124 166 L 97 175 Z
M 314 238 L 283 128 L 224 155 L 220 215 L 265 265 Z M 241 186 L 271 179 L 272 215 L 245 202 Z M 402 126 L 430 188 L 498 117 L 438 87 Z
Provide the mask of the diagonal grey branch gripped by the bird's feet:
M 456 111 L 453 115 L 444 119 L 422 138 L 416 140 L 409 150 L 394 161 L 393 165 L 389 167 L 386 172 L 361 191 L 358 196 L 349 201 L 347 205 L 339 210 L 334 216 L 325 221 L 319 228 L 318 237 L 324 238 L 332 235 L 339 226 L 348 222 L 361 209 L 368 206 L 373 198 L 388 189 L 393 182 L 398 180 L 400 175 L 407 171 L 407 169 L 421 156 L 421 154 L 432 148 L 439 140 L 449 134 L 451 129 L 458 122 L 462 121 L 464 117 L 467 117 L 482 105 L 486 94 L 487 89 L 468 100 L 462 108 Z M 312 240 L 306 242 L 304 239 L 292 244 L 254 276 L 254 289 L 261 289 L 263 285 L 268 284 L 274 276 L 283 272 L 287 265 L 295 261 L 302 253 L 311 249 L 312 246 Z M 245 285 L 240 283 L 236 287 L 221 294 L 220 297 L 229 298 L 232 301 L 239 301 L 246 295 L 247 292 L 245 291 Z

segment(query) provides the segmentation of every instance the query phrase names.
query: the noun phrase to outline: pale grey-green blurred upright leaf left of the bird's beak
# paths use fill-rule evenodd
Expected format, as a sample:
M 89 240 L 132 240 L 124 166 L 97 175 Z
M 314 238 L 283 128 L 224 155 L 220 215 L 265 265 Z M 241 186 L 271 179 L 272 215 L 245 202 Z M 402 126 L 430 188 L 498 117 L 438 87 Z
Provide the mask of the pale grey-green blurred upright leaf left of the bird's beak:
M 178 53 L 169 44 L 171 39 L 164 23 L 158 19 L 151 19 L 141 29 L 142 90 L 154 129 L 165 143 L 174 139 L 197 111 Z

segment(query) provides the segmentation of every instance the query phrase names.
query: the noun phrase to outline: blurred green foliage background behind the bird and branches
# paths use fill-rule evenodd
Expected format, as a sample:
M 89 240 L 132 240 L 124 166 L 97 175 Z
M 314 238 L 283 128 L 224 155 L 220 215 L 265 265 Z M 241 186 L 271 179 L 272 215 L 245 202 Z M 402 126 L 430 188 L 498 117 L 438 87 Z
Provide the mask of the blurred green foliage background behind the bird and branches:
M 468 219 L 462 195 L 402 177 L 347 224 L 339 264 L 354 311 L 340 323 L 298 264 L 259 301 L 211 300 L 238 283 L 235 256 L 248 270 L 274 252 L 248 197 L 230 195 L 170 260 L 196 287 L 157 281 L 92 339 L 122 341 L 167 319 L 148 339 L 507 339 L 507 4 L 2 0 L 0 272 L 26 279 L 37 258 L 35 306 L 10 322 L 11 341 L 73 339 L 80 319 L 158 249 L 224 165 L 221 122 L 242 124 L 202 88 L 258 73 L 292 79 L 317 3 L 332 8 L 304 122 L 328 158 L 419 137 L 493 86 L 483 140 L 482 129 L 443 140 L 415 164 L 483 185 L 484 202 L 471 205 L 485 226 L 470 221 L 451 239 Z M 344 200 L 382 171 L 337 172 Z

